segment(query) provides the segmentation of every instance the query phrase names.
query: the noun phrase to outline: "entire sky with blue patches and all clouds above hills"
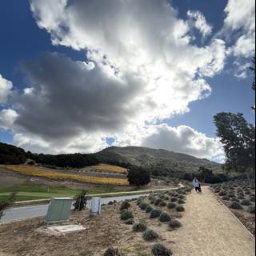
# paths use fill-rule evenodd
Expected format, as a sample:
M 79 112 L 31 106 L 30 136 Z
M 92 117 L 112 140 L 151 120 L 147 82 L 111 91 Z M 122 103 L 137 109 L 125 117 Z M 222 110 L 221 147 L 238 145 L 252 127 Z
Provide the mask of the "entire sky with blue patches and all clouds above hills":
M 223 162 L 214 115 L 254 123 L 253 0 L 8 0 L 0 11 L 0 142 Z

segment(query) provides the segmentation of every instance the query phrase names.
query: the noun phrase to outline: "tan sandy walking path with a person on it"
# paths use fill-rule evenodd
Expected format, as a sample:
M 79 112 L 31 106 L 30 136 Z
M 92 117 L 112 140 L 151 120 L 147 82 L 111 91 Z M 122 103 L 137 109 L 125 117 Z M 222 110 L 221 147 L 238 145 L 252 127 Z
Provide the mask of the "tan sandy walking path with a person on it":
M 203 187 L 187 198 L 182 228 L 170 239 L 175 256 L 254 256 L 255 240 L 236 218 Z

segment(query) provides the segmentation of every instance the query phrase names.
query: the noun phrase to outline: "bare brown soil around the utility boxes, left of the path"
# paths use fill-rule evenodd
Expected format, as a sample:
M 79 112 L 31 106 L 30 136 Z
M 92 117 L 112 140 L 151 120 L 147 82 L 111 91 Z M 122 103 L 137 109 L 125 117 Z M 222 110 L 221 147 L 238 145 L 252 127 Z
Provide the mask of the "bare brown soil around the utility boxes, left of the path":
M 147 226 L 161 235 L 159 242 L 171 245 L 166 239 L 166 224 L 157 219 L 150 220 L 135 203 L 132 204 L 134 220 L 146 222 Z M 108 246 L 118 247 L 123 255 L 150 255 L 154 242 L 145 242 L 142 234 L 135 234 L 119 218 L 118 207 L 102 206 L 102 215 L 90 217 L 86 210 L 75 213 L 71 223 L 82 224 L 86 230 L 78 233 L 54 236 L 42 233 L 46 224 L 42 218 L 15 222 L 0 226 L 0 248 L 2 253 L 12 256 L 102 256 Z M 1 254 L 0 254 L 1 255 Z

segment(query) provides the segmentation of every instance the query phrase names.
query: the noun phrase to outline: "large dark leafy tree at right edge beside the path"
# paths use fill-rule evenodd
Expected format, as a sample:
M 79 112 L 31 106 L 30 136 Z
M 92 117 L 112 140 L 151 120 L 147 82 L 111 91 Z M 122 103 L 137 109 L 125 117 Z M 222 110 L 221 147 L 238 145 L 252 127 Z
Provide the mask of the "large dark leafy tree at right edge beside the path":
M 224 145 L 226 169 L 242 173 L 255 170 L 255 127 L 241 113 L 218 113 L 214 123 Z

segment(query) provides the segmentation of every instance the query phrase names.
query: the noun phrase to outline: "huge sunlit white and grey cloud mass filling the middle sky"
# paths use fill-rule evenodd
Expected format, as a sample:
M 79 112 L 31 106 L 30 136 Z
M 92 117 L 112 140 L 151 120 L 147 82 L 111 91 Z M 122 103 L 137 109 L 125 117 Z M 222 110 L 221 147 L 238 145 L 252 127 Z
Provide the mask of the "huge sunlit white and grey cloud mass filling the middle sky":
M 194 46 L 190 22 L 178 18 L 166 0 L 31 0 L 30 8 L 54 45 L 85 50 L 86 62 L 44 54 L 23 64 L 28 86 L 12 102 L 18 113 L 14 142 L 26 149 L 96 151 L 109 136 L 120 145 L 150 143 L 165 127 L 154 124 L 206 98 L 211 88 L 205 78 L 225 64 L 225 42 Z M 209 35 L 203 15 L 190 15 Z M 148 138 L 142 140 L 141 134 Z M 187 145 L 174 150 L 215 155 L 214 150 L 193 151 L 188 134 L 181 134 Z M 214 147 L 204 139 L 202 148 Z

